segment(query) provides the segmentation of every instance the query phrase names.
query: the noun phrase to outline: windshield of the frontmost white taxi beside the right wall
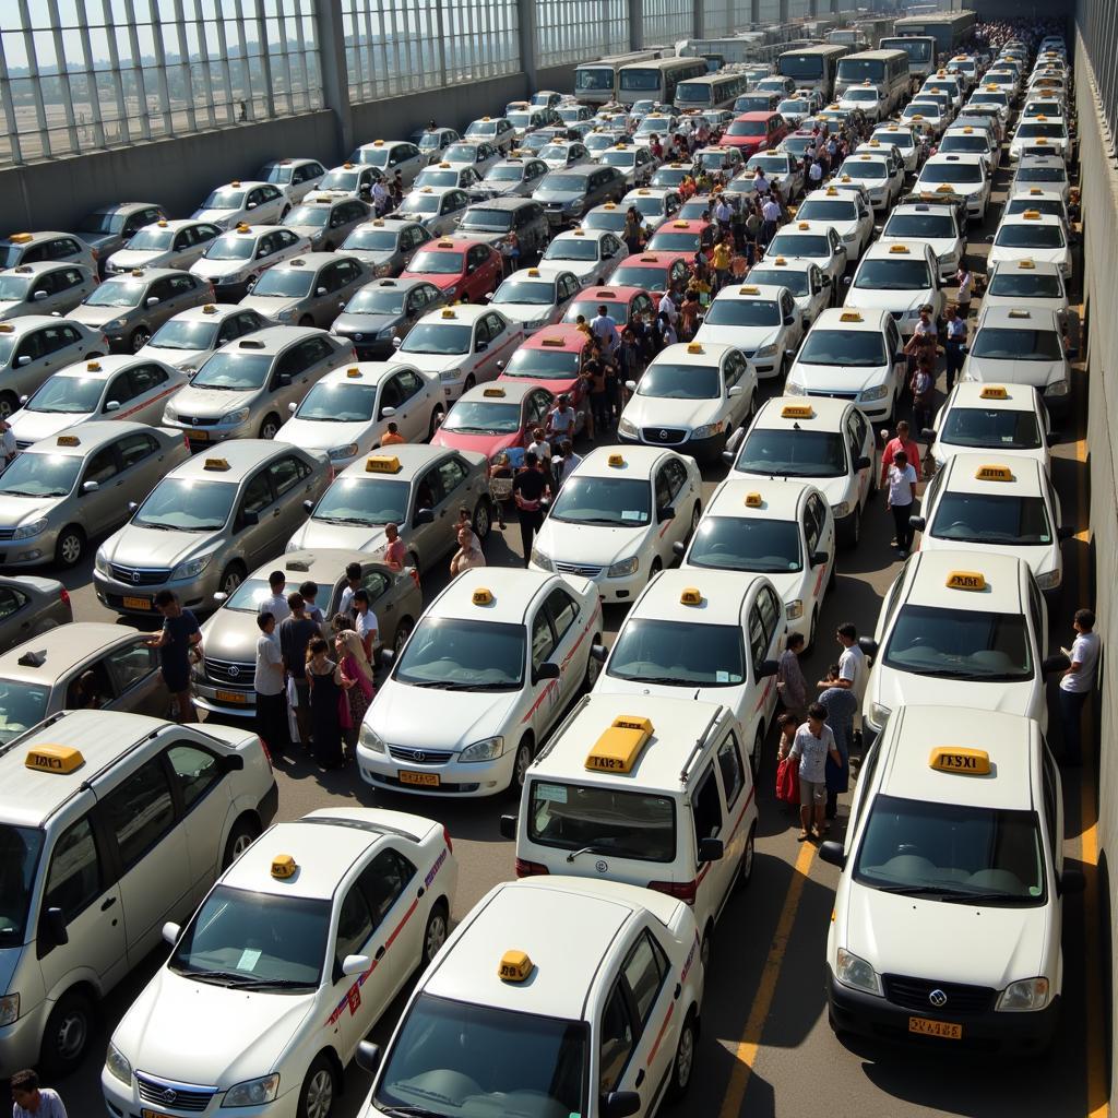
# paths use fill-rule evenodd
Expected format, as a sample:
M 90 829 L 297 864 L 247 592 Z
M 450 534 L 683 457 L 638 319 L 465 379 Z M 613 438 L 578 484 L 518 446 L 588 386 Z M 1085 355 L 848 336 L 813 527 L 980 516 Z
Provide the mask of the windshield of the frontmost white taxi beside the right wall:
M 854 865 L 861 884 L 948 903 L 1044 903 L 1044 851 L 1034 812 L 882 794 L 872 803 Z

